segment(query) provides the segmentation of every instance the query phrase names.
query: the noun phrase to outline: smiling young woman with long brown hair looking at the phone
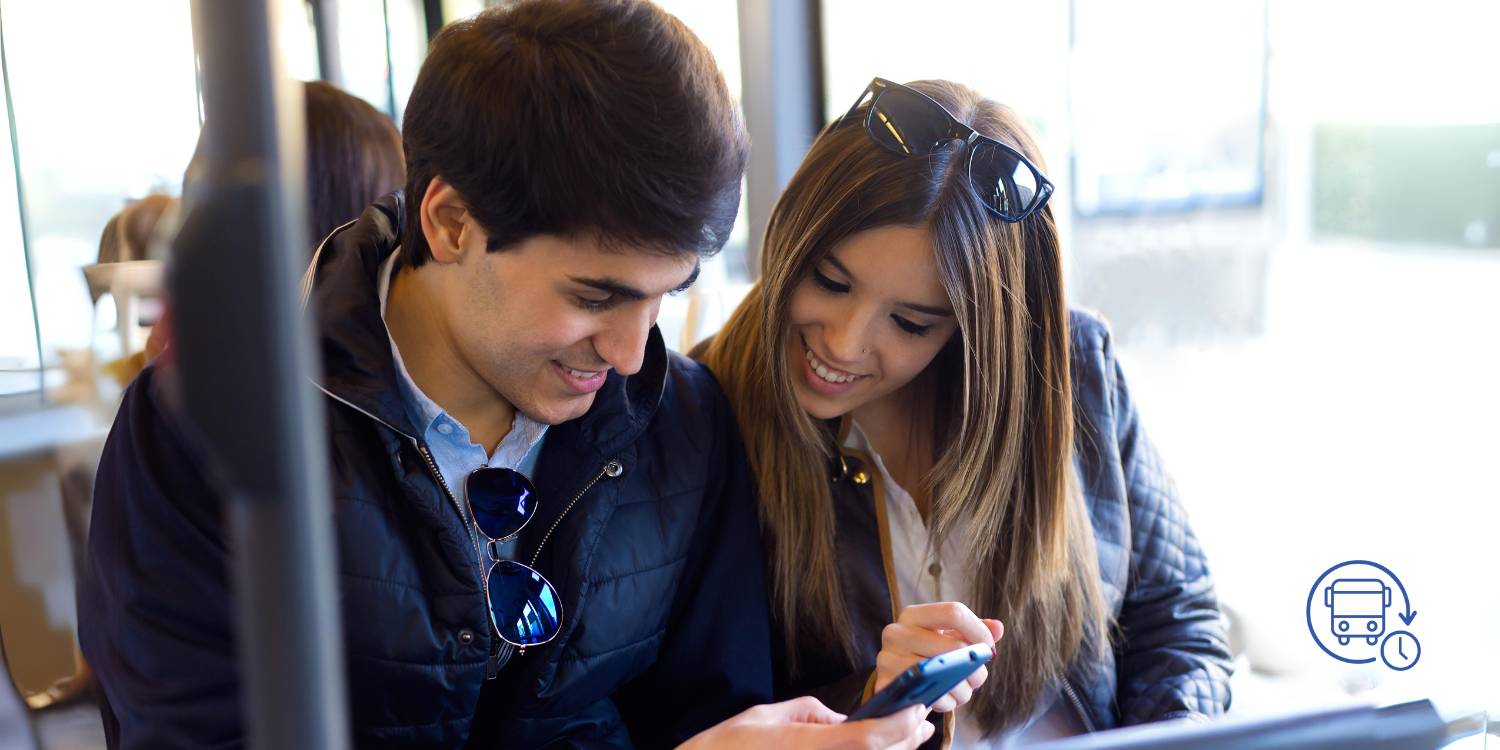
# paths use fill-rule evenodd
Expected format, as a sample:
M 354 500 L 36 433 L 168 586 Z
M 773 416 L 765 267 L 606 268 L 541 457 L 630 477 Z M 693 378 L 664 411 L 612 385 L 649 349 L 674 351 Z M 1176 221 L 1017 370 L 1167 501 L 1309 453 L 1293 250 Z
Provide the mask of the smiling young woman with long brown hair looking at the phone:
M 1108 330 L 1066 306 L 1040 164 L 1016 114 L 969 88 L 874 80 L 698 350 L 759 482 L 788 694 L 849 711 L 986 642 L 988 675 L 936 705 L 968 704 L 945 741 L 1228 705 L 1203 554 Z

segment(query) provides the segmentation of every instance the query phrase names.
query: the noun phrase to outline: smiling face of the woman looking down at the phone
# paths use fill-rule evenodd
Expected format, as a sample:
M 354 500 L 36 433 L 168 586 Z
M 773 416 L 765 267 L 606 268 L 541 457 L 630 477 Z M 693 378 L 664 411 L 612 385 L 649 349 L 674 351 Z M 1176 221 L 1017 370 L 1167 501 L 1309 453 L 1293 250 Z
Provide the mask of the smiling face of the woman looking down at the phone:
M 912 381 L 958 324 L 926 228 L 844 238 L 792 291 L 786 357 L 796 402 L 832 418 Z

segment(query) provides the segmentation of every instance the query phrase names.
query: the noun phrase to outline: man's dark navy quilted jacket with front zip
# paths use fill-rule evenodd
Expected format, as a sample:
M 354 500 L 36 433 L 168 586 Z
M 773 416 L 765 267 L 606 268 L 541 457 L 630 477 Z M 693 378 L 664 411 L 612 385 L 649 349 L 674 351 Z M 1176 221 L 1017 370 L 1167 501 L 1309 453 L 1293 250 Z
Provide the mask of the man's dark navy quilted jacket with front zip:
M 562 632 L 498 648 L 459 498 L 424 460 L 380 318 L 399 220 L 399 201 L 372 206 L 324 243 L 312 286 L 356 746 L 670 747 L 766 700 L 740 430 L 708 370 L 656 332 L 639 374 L 610 372 L 588 414 L 548 432 L 518 556 L 546 540 L 536 567 Z M 99 466 L 80 638 L 112 747 L 243 747 L 224 507 L 159 375 L 126 393 Z

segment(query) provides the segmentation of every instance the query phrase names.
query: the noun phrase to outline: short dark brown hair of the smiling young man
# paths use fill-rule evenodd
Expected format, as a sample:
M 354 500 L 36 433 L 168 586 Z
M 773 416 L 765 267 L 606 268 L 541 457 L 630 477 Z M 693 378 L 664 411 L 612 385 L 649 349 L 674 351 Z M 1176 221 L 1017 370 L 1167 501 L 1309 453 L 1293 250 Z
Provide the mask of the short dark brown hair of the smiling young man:
M 748 140 L 723 74 L 639 0 L 522 0 L 447 26 L 406 102 L 402 261 L 432 256 L 441 176 L 502 250 L 538 234 L 708 256 L 740 210 Z

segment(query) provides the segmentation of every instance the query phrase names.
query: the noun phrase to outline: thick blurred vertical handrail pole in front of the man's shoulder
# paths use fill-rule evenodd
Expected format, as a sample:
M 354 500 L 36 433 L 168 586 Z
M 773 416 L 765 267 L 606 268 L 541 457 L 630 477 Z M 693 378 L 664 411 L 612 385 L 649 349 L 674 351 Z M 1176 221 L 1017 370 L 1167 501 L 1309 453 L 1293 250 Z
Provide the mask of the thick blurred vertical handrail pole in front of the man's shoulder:
M 194 0 L 201 170 L 170 290 L 182 408 L 228 498 L 249 746 L 348 747 L 327 436 L 297 279 L 308 256 L 302 92 L 268 0 Z

